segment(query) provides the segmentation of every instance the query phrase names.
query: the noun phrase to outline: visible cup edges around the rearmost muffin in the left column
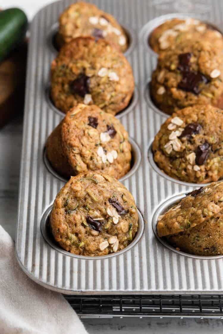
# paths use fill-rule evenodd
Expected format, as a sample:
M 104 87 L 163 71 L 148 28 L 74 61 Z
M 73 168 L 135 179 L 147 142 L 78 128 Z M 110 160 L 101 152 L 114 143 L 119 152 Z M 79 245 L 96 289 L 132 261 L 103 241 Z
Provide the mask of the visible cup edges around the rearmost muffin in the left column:
M 134 50 L 137 42 L 137 37 L 135 30 L 132 29 L 129 25 L 121 24 L 121 27 L 128 38 L 128 48 L 123 53 L 124 56 L 127 57 Z M 60 47 L 57 42 L 57 38 L 59 38 L 58 31 L 59 31 L 59 23 L 56 22 L 51 26 L 46 38 L 47 46 L 49 47 L 50 51 L 55 55 L 60 51 Z

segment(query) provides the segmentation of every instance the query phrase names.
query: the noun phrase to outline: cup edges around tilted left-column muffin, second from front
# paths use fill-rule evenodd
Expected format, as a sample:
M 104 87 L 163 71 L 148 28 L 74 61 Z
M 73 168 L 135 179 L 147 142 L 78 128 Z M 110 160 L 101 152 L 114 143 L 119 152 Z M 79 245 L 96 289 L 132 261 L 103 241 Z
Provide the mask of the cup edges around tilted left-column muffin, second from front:
M 138 147 L 138 145 L 136 144 L 136 142 L 132 139 L 129 138 L 129 143 L 132 146 L 132 159 L 131 159 L 131 167 L 130 170 L 128 171 L 128 173 L 126 173 L 124 176 L 122 176 L 119 181 L 124 181 L 125 179 L 127 179 L 128 177 L 130 177 L 132 174 L 135 173 L 135 171 L 137 170 L 140 162 L 141 162 L 141 152 L 140 149 Z M 55 177 L 57 177 L 59 180 L 63 181 L 63 182 L 67 182 L 68 179 L 64 178 L 63 176 L 61 176 L 60 174 L 58 174 L 58 172 L 56 172 L 53 167 L 51 166 L 47 155 L 46 155 L 46 149 L 44 148 L 44 152 L 43 152 L 43 160 L 45 163 L 46 168 L 48 169 L 48 171 L 54 175 Z

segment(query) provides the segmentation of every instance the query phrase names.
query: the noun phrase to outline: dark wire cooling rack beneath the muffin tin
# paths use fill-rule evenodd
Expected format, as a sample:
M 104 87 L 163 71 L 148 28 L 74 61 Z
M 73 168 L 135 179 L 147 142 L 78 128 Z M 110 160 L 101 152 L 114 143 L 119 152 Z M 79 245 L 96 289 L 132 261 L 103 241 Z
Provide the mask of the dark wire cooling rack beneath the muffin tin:
M 64 296 L 80 318 L 223 319 L 223 295 Z

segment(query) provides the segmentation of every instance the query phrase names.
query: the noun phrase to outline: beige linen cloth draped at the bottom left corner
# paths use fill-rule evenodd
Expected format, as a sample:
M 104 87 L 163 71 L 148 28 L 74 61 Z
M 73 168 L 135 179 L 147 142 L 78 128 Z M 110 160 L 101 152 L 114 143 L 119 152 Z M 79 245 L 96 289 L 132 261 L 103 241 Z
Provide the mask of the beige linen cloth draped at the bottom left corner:
M 15 257 L 15 244 L 0 225 L 0 333 L 87 334 L 64 297 L 30 280 Z

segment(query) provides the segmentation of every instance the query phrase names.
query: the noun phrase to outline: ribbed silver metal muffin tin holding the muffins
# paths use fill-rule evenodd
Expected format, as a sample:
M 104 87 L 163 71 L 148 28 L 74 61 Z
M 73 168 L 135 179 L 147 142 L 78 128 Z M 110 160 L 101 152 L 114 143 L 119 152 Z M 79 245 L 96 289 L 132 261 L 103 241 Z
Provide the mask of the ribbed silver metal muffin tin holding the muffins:
M 135 98 L 134 94 L 134 105 L 128 113 L 125 110 L 118 117 L 134 140 L 132 143 L 137 143 L 138 157 L 141 155 L 137 168 L 122 182 L 135 198 L 142 216 L 139 213 L 140 228 L 131 247 L 109 258 L 72 256 L 50 241 L 47 214 L 65 184 L 64 179 L 46 168 L 43 155 L 48 135 L 64 116 L 51 104 L 47 91 L 50 64 L 56 54 L 50 39 L 57 30 L 58 16 L 72 2 L 62 0 L 44 7 L 34 17 L 30 28 L 16 233 L 16 256 L 21 268 L 35 282 L 64 294 L 219 294 L 223 290 L 221 258 L 184 256 L 156 237 L 156 217 L 168 207 L 166 201 L 173 204 L 175 196 L 198 186 L 163 177 L 148 159 L 149 143 L 167 116 L 154 112 L 147 103 L 145 87 L 156 65 L 156 56 L 151 56 L 145 36 L 148 37 L 148 27 L 155 28 L 155 17 L 157 26 L 163 22 L 163 12 L 183 8 L 182 0 L 90 1 L 117 18 L 128 31 L 133 45 L 126 56 L 133 68 L 137 96 Z M 173 15 L 199 15 L 215 25 L 223 20 L 220 0 L 187 1 L 187 4 L 193 14 L 168 14 L 165 19 Z M 162 203 L 164 207 L 160 207 Z

